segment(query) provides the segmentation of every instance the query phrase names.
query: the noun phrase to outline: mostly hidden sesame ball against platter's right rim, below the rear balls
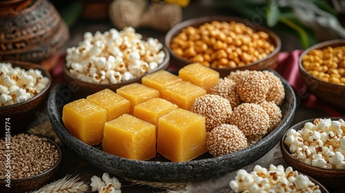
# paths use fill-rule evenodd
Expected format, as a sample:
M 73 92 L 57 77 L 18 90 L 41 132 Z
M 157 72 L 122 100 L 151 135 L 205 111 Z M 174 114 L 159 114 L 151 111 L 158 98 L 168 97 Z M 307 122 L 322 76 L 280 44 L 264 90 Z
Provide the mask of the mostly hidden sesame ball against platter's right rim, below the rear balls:
M 263 101 L 262 103 L 259 103 L 259 105 L 266 110 L 270 117 L 270 125 L 267 129 L 267 132 L 269 133 L 277 128 L 280 121 L 282 121 L 282 110 L 280 110 L 274 101 Z

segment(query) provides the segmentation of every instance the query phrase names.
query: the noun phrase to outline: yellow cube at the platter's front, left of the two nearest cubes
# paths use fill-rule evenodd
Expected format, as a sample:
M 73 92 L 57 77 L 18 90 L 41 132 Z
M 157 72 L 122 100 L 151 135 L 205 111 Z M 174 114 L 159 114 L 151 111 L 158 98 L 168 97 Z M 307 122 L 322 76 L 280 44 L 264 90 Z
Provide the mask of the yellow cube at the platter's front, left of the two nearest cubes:
M 130 114 L 104 125 L 104 152 L 127 159 L 148 160 L 156 156 L 156 128 Z

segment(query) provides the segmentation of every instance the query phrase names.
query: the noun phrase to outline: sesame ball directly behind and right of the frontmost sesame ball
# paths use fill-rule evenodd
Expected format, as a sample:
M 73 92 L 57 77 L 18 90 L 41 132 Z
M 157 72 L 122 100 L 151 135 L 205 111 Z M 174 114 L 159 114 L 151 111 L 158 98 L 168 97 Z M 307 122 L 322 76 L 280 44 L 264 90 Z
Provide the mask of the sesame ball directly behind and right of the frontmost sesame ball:
M 236 125 L 246 136 L 264 135 L 270 125 L 270 117 L 256 103 L 242 103 L 233 109 L 230 124 Z

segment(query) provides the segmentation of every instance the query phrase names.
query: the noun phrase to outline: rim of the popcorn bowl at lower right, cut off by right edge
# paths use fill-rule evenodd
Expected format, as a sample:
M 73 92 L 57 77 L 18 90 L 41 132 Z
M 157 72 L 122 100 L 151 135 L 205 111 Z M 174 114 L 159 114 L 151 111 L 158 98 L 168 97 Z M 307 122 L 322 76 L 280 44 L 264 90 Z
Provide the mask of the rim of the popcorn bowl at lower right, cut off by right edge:
M 290 159 L 290 160 L 295 160 L 297 161 L 298 163 L 300 163 L 300 165 L 304 165 L 306 167 L 310 167 L 312 169 L 315 169 L 315 170 L 322 170 L 322 171 L 325 171 L 325 172 L 344 172 L 345 174 L 345 168 L 344 169 L 335 169 L 335 168 L 323 168 L 323 167 L 317 167 L 317 166 L 314 166 L 314 165 L 311 165 L 311 164 L 308 164 L 308 163 L 304 163 L 303 161 L 300 161 L 299 159 L 296 159 L 295 157 L 293 157 L 290 153 L 290 150 L 288 150 L 288 145 L 286 145 L 284 143 L 285 139 L 286 139 L 286 134 L 288 134 L 288 132 L 291 130 L 291 129 L 297 129 L 297 126 L 298 125 L 304 125 L 304 123 L 307 123 L 307 122 L 311 122 L 313 123 L 313 121 L 317 119 L 317 118 L 312 118 L 312 119 L 306 119 L 304 121 L 300 121 L 299 123 L 296 123 L 295 125 L 291 126 L 290 128 L 288 128 L 288 130 L 286 130 L 286 132 L 284 132 L 284 135 L 282 137 L 282 139 L 280 140 L 280 148 L 282 149 L 282 152 L 283 150 L 285 152 L 287 152 L 287 154 L 283 154 L 283 156 L 287 156 L 286 159 Z M 337 117 L 337 116 L 324 116 L 324 117 L 321 117 L 320 119 L 332 119 L 332 120 L 338 120 L 338 119 L 343 119 L 345 121 L 344 118 L 342 117 Z M 301 126 L 302 126 L 301 125 Z M 301 130 L 302 128 L 298 128 L 298 130 Z

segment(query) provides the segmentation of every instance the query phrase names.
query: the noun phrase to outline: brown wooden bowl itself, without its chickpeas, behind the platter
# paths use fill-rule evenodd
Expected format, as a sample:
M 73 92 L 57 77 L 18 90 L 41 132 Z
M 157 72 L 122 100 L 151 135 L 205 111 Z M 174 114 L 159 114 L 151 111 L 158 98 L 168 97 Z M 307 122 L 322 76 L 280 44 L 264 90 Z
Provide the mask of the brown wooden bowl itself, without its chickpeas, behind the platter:
M 255 61 L 253 63 L 239 66 L 237 68 L 213 68 L 213 70 L 216 70 L 219 72 L 220 77 L 226 77 L 230 72 L 236 71 L 236 70 L 264 70 L 266 68 L 275 68 L 277 65 L 277 60 L 278 60 L 278 55 L 279 52 L 282 48 L 282 42 L 280 41 L 279 37 L 277 34 L 274 32 L 268 30 L 267 28 L 264 28 L 262 26 L 257 26 L 253 23 L 250 23 L 250 21 L 242 18 L 237 18 L 237 17 L 223 17 L 223 16 L 208 16 L 208 17 L 200 17 L 200 18 L 195 18 L 195 19 L 190 19 L 183 21 L 181 23 L 178 23 L 174 27 L 172 27 L 166 34 L 165 37 L 165 45 L 168 48 L 170 55 L 171 55 L 171 61 L 174 65 L 176 65 L 177 68 L 182 68 L 187 64 L 193 63 L 192 61 L 185 59 L 183 57 L 179 57 L 175 52 L 172 51 L 170 48 L 170 43 L 172 39 L 177 36 L 181 32 L 182 29 L 188 27 L 188 26 L 193 26 L 195 28 L 201 26 L 204 23 L 210 22 L 210 21 L 236 21 L 237 23 L 244 23 L 246 26 L 249 26 L 250 28 L 253 28 L 255 31 L 263 31 L 269 34 L 270 36 L 270 43 L 273 43 L 275 45 L 275 50 L 268 54 L 267 57 L 264 59 L 260 59 L 258 61 Z

